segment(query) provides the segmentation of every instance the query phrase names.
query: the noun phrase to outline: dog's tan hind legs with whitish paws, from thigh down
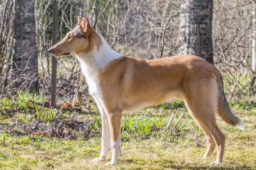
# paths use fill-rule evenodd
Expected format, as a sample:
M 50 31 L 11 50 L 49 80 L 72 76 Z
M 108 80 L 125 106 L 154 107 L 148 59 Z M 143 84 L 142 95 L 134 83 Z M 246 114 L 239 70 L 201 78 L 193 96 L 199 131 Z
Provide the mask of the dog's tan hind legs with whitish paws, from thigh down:
M 208 150 L 205 157 L 212 154 L 214 143 L 217 146 L 216 161 L 211 165 L 218 165 L 223 161 L 225 135 L 218 129 L 215 113 L 218 110 L 218 86 L 215 80 L 204 80 L 187 84 L 186 106 L 191 116 L 198 122 L 208 138 Z M 213 142 L 213 140 L 214 142 Z

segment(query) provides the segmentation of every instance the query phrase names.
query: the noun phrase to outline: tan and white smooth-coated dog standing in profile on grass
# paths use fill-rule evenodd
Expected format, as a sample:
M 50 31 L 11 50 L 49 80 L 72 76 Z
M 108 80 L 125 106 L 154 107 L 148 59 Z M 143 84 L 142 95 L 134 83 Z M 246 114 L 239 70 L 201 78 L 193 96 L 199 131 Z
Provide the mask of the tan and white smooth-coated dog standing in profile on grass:
M 143 60 L 112 50 L 97 33 L 87 17 L 76 16 L 78 24 L 48 52 L 59 57 L 73 54 L 81 64 L 102 118 L 102 148 L 105 160 L 112 150 L 115 165 L 121 152 L 121 115 L 158 105 L 170 99 L 181 99 L 189 114 L 203 129 L 208 148 L 207 158 L 217 147 L 216 160 L 223 161 L 225 135 L 216 124 L 216 112 L 228 124 L 244 130 L 244 122 L 232 114 L 225 98 L 221 73 L 199 56 L 179 55 L 154 60 Z

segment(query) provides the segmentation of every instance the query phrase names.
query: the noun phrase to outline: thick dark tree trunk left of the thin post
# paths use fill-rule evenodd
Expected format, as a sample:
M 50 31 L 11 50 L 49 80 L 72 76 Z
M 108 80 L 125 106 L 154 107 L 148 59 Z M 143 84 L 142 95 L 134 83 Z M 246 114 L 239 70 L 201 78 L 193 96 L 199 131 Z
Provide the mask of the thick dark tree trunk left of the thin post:
M 19 88 L 38 89 L 38 56 L 35 43 L 35 0 L 16 1 L 15 47 L 12 79 Z

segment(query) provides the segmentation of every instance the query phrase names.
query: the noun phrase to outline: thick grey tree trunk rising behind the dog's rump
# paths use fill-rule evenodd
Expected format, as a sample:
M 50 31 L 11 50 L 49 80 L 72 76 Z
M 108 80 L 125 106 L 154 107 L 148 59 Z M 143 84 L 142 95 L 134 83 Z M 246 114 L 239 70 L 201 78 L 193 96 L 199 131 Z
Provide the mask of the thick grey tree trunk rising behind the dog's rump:
M 213 64 L 212 0 L 182 0 L 180 54 L 194 54 Z

